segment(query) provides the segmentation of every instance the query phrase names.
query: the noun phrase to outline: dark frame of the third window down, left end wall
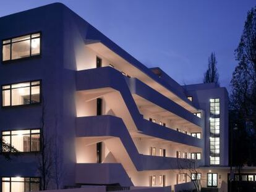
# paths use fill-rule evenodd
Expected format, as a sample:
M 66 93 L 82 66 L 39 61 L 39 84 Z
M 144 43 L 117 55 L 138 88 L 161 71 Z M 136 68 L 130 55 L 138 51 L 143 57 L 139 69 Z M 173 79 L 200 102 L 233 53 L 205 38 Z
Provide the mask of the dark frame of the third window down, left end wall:
M 19 154 L 26 154 L 26 153 L 38 153 L 38 152 L 41 152 L 41 147 L 42 147 L 42 129 L 41 128 L 23 128 L 23 129 L 19 129 L 19 130 L 2 130 L 1 131 L 1 138 L 3 136 L 10 136 L 10 144 L 12 146 L 12 131 L 24 131 L 24 130 L 30 130 L 30 133 L 29 134 L 25 134 L 25 135 L 30 135 L 30 151 L 18 151 L 18 152 L 11 152 L 11 151 L 2 151 L 2 143 L 0 144 L 1 146 L 1 153 L 9 153 L 9 154 L 15 154 L 15 153 L 19 153 Z M 32 130 L 40 130 L 40 133 L 32 133 Z M 2 132 L 5 132 L 5 131 L 10 131 L 10 134 L 9 135 L 2 135 Z M 32 144 L 32 135 L 40 135 L 40 148 L 39 148 L 39 151 L 31 151 L 31 144 Z

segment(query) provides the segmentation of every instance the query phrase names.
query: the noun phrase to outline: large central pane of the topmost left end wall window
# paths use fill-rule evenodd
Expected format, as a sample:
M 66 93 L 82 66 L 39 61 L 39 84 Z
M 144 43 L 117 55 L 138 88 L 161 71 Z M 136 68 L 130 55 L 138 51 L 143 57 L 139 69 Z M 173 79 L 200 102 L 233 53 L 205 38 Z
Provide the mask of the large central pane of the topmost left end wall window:
M 30 56 L 30 40 L 12 43 L 12 59 Z

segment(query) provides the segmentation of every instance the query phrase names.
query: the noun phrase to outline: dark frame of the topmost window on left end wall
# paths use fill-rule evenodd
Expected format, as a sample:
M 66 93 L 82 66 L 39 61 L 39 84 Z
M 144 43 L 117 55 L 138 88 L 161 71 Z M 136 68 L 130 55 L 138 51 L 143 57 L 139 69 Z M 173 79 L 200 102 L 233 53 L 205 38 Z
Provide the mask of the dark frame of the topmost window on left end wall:
M 37 33 L 39 33 L 40 36 L 32 38 L 32 35 L 35 35 Z M 22 37 L 22 36 L 27 36 L 27 35 L 30 35 L 30 39 L 28 39 L 28 40 L 30 40 L 30 56 L 19 58 L 19 59 L 12 59 L 12 39 L 19 38 L 19 37 Z M 32 40 L 33 39 L 37 39 L 37 38 L 40 38 L 40 53 L 32 56 Z M 8 40 L 10 40 L 10 43 L 4 43 L 4 41 L 8 41 Z M 2 39 L 2 43 L 1 43 L 2 50 L 4 48 L 4 45 L 10 44 L 10 59 L 6 60 L 6 61 L 3 61 L 4 56 L 3 56 L 3 54 L 1 54 L 1 62 L 2 62 L 2 64 L 9 64 L 9 63 L 16 62 L 16 61 L 22 61 L 22 60 L 27 60 L 27 59 L 33 59 L 33 58 L 41 57 L 41 54 L 42 54 L 42 41 L 41 40 L 42 40 L 42 32 L 41 31 L 35 31 L 33 33 L 26 33 L 25 35 L 12 36 L 11 38 L 4 38 L 4 39 Z M 27 40 L 15 41 L 14 43 L 22 42 L 22 41 L 27 41 Z

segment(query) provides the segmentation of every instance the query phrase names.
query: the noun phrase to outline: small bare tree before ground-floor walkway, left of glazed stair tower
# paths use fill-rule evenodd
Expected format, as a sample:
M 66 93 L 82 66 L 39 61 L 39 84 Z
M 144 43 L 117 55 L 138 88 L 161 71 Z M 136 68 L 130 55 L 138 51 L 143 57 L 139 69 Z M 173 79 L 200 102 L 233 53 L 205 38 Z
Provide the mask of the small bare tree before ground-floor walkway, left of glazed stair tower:
M 191 182 L 195 186 L 195 190 L 197 192 L 200 192 L 202 185 L 201 185 L 201 178 L 198 177 L 199 172 L 198 172 L 197 160 L 177 158 L 177 166 L 178 166 L 179 174 L 186 175 L 187 178 L 190 178 Z

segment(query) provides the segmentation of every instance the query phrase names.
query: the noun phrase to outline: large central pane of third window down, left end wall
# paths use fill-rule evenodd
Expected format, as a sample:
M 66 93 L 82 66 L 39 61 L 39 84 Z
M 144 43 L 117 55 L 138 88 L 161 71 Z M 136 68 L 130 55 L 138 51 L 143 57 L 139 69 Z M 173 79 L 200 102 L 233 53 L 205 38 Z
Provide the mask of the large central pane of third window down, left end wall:
M 30 151 L 30 135 L 13 135 L 12 146 L 20 152 Z

